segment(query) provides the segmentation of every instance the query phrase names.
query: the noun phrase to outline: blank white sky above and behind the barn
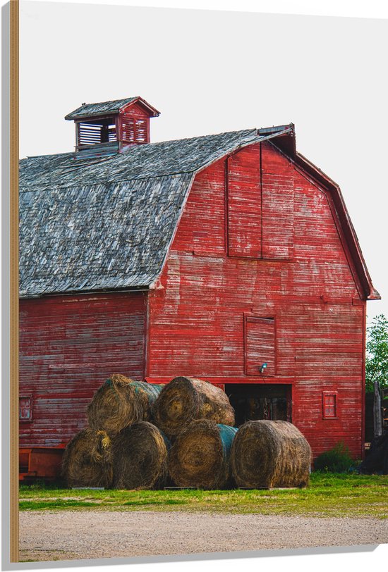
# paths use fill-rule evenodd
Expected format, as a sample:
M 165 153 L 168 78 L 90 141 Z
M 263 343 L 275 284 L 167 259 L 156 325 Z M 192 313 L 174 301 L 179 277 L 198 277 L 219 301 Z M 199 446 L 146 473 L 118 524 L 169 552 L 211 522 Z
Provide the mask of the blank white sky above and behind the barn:
M 388 316 L 388 20 L 20 2 L 20 156 L 71 151 L 83 101 L 140 95 L 152 141 L 296 125 L 339 183 Z

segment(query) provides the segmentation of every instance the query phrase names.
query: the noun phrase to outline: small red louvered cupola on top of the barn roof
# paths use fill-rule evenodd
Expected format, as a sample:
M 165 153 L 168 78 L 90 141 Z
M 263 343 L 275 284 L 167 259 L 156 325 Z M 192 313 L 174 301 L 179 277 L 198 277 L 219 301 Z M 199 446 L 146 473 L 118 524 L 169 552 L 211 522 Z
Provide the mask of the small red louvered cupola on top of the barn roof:
M 82 104 L 65 117 L 75 123 L 75 157 L 114 155 L 150 143 L 150 118 L 159 114 L 141 97 Z

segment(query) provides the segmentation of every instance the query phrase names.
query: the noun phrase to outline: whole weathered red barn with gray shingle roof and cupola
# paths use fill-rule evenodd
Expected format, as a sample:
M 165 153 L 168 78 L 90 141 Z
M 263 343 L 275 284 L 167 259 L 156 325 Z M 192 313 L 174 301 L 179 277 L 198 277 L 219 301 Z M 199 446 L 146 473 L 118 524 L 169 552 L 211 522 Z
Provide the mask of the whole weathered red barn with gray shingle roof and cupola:
M 20 470 L 53 474 L 114 372 L 203 378 L 238 425 L 288 419 L 315 455 L 361 456 L 380 296 L 338 185 L 292 124 L 150 144 L 157 115 L 83 104 L 75 152 L 20 163 Z

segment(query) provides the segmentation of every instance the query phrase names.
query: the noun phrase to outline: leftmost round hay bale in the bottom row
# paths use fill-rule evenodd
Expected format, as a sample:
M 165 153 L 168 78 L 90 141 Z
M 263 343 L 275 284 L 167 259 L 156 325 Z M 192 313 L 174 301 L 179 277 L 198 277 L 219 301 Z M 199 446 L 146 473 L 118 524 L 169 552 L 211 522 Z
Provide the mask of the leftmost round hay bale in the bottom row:
M 62 475 L 69 487 L 110 488 L 113 464 L 107 433 L 90 428 L 77 433 L 63 453 Z

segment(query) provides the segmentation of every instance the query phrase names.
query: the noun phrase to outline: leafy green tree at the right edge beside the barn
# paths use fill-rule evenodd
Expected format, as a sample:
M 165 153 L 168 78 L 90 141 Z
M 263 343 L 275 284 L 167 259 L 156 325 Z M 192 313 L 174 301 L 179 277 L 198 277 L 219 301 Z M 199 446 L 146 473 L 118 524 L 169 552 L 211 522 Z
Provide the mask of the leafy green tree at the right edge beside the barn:
M 375 380 L 380 388 L 388 387 L 388 320 L 384 314 L 375 316 L 366 332 L 365 390 L 373 391 Z

